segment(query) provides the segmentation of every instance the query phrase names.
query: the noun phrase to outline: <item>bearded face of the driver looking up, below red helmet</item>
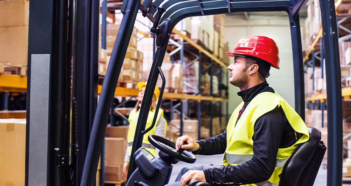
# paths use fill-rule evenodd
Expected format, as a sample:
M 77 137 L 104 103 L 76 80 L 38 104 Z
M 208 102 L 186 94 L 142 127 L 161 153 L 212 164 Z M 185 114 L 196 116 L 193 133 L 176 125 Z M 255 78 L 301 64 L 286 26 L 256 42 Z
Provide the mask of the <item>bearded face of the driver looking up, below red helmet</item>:
M 228 66 L 229 82 L 236 87 L 244 87 L 248 83 L 248 76 L 246 74 L 246 59 L 244 57 L 235 57 L 234 63 Z

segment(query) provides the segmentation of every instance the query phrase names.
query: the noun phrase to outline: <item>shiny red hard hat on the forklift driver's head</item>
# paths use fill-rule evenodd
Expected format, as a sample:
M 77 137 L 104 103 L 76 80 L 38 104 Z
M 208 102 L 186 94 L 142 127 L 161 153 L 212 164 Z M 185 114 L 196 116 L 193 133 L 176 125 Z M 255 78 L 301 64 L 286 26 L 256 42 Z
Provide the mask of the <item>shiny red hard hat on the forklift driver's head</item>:
M 226 55 L 234 57 L 235 54 L 250 55 L 263 59 L 271 64 L 271 67 L 279 69 L 279 51 L 273 39 L 265 36 L 246 36 L 242 38 L 232 52 Z

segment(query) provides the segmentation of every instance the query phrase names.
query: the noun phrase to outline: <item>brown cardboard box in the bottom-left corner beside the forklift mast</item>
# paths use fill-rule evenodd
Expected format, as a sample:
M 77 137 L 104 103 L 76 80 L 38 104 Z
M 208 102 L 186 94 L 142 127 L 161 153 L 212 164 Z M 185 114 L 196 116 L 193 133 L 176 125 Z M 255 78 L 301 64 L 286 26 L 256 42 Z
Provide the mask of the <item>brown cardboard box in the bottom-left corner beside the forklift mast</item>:
M 0 185 L 24 185 L 26 119 L 0 119 Z

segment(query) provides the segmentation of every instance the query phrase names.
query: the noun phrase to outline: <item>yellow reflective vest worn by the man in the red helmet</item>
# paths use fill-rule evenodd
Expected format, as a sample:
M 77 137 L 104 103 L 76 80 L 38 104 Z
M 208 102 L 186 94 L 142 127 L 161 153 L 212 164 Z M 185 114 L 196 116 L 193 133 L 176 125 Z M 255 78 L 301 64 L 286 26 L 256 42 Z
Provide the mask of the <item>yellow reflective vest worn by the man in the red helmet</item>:
M 251 160 L 253 157 L 253 135 L 256 120 L 263 114 L 273 110 L 276 106 L 281 106 L 291 127 L 298 133 L 301 138 L 292 146 L 287 148 L 279 148 L 277 161 L 274 172 L 271 177 L 264 182 L 256 184 L 246 184 L 250 186 L 278 185 L 280 173 L 283 166 L 291 154 L 295 151 L 299 144 L 308 141 L 309 132 L 305 122 L 300 115 L 277 93 L 263 92 L 258 94 L 245 108 L 237 122 L 239 111 L 243 107 L 242 102 L 231 114 L 227 126 L 227 147 L 223 156 L 223 164 L 225 166 L 238 165 Z M 237 122 L 237 123 L 236 123 Z

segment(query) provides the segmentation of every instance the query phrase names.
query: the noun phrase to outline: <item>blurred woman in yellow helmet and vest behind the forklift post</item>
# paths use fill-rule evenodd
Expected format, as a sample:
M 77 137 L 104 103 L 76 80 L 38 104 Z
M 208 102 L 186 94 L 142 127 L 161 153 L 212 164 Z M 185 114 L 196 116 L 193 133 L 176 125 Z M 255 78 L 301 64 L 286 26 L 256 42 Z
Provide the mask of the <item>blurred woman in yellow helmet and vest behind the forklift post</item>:
M 123 164 L 123 172 L 125 172 L 125 173 L 128 172 L 129 159 L 130 159 L 131 152 L 132 152 L 134 134 L 135 134 L 135 130 L 137 127 L 137 121 L 139 118 L 139 111 L 140 111 L 141 103 L 143 101 L 143 97 L 144 97 L 144 93 L 145 93 L 146 82 L 145 83 L 139 82 L 138 88 L 139 88 L 138 101 L 137 101 L 137 104 L 135 105 L 134 109 L 131 110 L 131 112 L 129 113 L 129 118 L 128 118 L 128 120 L 129 120 L 129 129 L 128 129 L 128 136 L 127 136 L 128 146 L 127 146 L 127 152 L 126 152 L 126 156 L 125 156 L 125 162 Z M 158 99 L 159 94 L 160 94 L 160 90 L 156 86 L 154 94 L 152 96 L 152 102 L 150 105 L 149 115 L 147 117 L 145 129 L 149 128 L 152 125 L 152 120 L 153 120 L 154 115 L 155 115 L 155 109 L 156 109 L 156 104 L 157 104 L 157 99 Z M 156 158 L 158 157 L 159 150 L 156 149 L 153 145 L 151 145 L 147 138 L 150 134 L 155 134 L 157 136 L 161 136 L 164 138 L 166 136 L 166 130 L 167 130 L 167 121 L 163 117 L 163 110 L 159 109 L 158 113 L 157 113 L 157 119 L 156 119 L 155 126 L 154 126 L 154 128 L 152 128 L 149 132 L 147 132 L 144 135 L 143 144 L 142 144 L 142 147 L 144 147 L 146 150 L 148 150 Z

